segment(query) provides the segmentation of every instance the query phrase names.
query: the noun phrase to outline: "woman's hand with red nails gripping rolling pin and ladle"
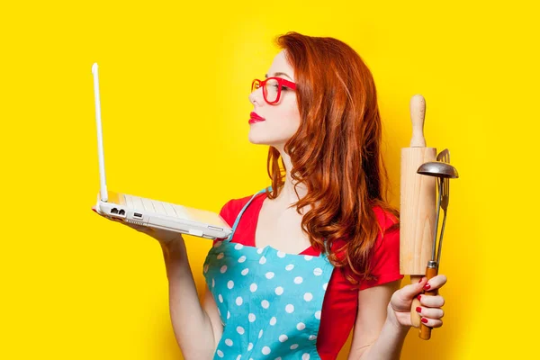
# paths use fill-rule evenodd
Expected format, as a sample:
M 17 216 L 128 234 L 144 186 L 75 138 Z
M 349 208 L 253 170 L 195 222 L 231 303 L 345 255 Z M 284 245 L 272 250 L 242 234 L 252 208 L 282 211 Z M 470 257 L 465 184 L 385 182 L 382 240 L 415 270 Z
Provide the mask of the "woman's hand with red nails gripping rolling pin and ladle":
M 428 285 L 427 285 L 428 284 Z M 441 295 L 430 296 L 421 294 L 422 290 L 440 289 L 446 284 L 445 275 L 437 275 L 431 279 L 423 277 L 419 284 L 409 284 L 392 294 L 392 299 L 388 305 L 388 315 L 396 325 L 401 327 L 411 327 L 410 307 L 414 298 L 419 296 L 420 305 L 417 308 L 422 322 L 429 328 L 440 328 L 443 326 L 441 318 L 445 312 L 441 307 L 445 304 L 445 299 Z M 425 287 L 428 286 L 428 287 Z

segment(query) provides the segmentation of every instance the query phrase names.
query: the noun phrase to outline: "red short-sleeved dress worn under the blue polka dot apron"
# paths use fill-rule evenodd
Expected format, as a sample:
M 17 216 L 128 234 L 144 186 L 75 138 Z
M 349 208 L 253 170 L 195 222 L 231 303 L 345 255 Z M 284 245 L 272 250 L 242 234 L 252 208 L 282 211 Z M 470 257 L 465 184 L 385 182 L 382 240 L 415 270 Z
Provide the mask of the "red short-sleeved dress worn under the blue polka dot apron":
M 253 195 L 241 199 L 232 199 L 221 208 L 221 217 L 232 227 L 238 213 Z M 257 219 L 266 193 L 261 193 L 247 206 L 246 211 L 240 218 L 232 242 L 241 243 L 245 246 L 255 246 L 255 230 Z M 377 220 L 383 229 L 388 229 L 395 223 L 395 217 L 383 211 L 379 207 L 374 208 Z M 335 244 L 336 247 L 343 245 Z M 301 255 L 319 256 L 320 251 L 308 247 Z M 379 233 L 375 243 L 373 275 L 376 281 L 368 281 L 360 284 L 360 291 L 367 288 L 390 283 L 402 279 L 400 274 L 400 231 L 386 232 L 384 238 Z M 338 357 L 341 347 L 347 342 L 347 338 L 353 329 L 358 310 L 358 290 L 353 288 L 347 280 L 346 274 L 351 274 L 350 269 L 334 269 L 328 289 L 322 304 L 320 317 L 319 337 L 317 338 L 317 350 L 322 360 L 330 360 Z

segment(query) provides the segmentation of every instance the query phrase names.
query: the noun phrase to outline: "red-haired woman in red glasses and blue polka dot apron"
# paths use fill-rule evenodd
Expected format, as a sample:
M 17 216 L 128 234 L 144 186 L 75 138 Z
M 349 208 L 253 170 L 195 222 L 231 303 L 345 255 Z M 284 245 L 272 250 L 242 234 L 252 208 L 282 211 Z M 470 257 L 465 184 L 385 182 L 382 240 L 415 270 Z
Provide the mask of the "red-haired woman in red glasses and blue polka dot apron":
M 272 184 L 222 207 L 233 234 L 206 258 L 202 304 L 182 236 L 134 227 L 163 248 L 175 337 L 185 359 L 327 360 L 354 329 L 349 358 L 398 359 L 412 300 L 446 276 L 400 289 L 373 76 L 342 41 L 277 42 L 249 95 L 249 141 L 269 146 Z M 442 326 L 444 299 L 420 303 L 422 321 Z

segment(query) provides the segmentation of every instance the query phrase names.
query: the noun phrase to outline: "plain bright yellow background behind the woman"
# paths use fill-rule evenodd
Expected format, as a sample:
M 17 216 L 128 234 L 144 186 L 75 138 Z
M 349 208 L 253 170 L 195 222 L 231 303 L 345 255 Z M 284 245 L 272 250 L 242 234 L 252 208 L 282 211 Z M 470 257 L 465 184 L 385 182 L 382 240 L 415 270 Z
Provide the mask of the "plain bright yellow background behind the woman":
M 344 40 L 373 71 L 394 204 L 413 94 L 426 97 L 428 146 L 450 148 L 460 173 L 440 269 L 445 325 L 428 342 L 411 329 L 402 358 L 528 357 L 538 13 L 495 3 L 4 2 L 0 358 L 181 358 L 157 242 L 90 211 L 91 66 L 109 188 L 219 211 L 269 184 L 267 148 L 247 140 L 247 95 L 286 31 Z M 202 290 L 211 242 L 186 238 Z

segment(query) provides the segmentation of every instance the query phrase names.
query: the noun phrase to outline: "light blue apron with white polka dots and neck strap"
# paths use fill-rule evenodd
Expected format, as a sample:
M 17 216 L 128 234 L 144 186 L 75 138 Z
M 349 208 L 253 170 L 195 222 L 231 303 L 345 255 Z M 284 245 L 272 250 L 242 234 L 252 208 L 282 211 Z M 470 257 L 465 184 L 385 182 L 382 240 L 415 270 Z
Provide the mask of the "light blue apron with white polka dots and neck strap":
M 258 193 L 238 213 L 229 238 L 217 241 L 204 262 L 223 324 L 214 359 L 320 359 L 320 313 L 334 266 L 324 254 L 300 256 L 230 242 Z

